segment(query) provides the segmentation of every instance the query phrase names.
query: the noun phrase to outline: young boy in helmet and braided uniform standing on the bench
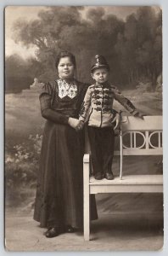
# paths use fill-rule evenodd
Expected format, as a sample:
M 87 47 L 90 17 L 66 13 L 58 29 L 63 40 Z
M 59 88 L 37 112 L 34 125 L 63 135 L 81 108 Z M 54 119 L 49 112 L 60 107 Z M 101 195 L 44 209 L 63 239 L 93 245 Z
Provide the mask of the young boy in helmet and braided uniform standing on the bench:
M 88 122 L 88 137 L 91 146 L 92 168 L 95 179 L 114 179 L 111 171 L 114 155 L 115 111 L 114 99 L 134 116 L 143 118 L 120 90 L 109 82 L 109 64 L 104 56 L 96 55 L 91 74 L 95 84 L 88 87 L 84 98 L 79 119 L 81 127 Z M 79 129 L 81 128 L 79 126 Z

